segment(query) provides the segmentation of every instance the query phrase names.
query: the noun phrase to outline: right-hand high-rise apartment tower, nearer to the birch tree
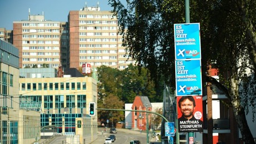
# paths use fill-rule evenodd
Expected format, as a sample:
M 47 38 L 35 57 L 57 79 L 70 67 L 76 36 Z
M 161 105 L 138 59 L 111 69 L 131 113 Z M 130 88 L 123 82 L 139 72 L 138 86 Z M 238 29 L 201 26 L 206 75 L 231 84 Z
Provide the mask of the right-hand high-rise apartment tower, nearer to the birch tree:
M 83 7 L 68 14 L 70 59 L 72 68 L 90 63 L 91 67 L 102 65 L 125 69 L 130 63 L 122 36 L 118 34 L 117 18 L 100 7 Z

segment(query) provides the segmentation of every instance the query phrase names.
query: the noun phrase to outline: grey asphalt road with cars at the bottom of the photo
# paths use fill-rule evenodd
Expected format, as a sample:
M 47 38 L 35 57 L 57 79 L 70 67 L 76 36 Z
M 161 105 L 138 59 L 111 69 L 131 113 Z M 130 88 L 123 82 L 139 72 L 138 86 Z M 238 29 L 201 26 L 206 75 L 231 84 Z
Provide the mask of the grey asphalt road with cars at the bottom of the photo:
M 113 142 L 114 144 L 130 144 L 130 141 L 132 140 L 139 140 L 142 143 L 146 143 L 146 133 L 142 132 L 140 133 L 139 131 L 133 131 L 133 130 L 127 130 L 127 129 L 119 129 L 117 128 L 117 133 L 109 133 L 108 131 L 103 132 L 104 128 L 98 128 L 98 138 L 97 140 L 93 141 L 92 144 L 102 144 L 105 142 L 105 138 L 109 137 L 109 135 L 115 135 L 116 136 L 116 141 Z M 152 139 L 154 141 L 154 139 Z

